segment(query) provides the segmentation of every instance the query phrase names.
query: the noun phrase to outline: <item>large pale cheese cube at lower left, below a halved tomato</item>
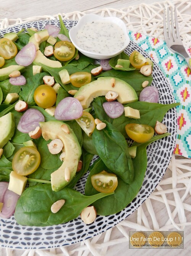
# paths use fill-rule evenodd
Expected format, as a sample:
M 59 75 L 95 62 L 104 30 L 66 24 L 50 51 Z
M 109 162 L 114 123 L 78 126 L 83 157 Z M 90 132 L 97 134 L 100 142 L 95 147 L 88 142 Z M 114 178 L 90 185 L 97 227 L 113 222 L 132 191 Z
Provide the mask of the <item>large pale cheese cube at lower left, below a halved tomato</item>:
M 15 192 L 18 195 L 21 195 L 26 187 L 27 177 L 17 174 L 12 171 L 10 173 L 10 182 L 8 189 Z

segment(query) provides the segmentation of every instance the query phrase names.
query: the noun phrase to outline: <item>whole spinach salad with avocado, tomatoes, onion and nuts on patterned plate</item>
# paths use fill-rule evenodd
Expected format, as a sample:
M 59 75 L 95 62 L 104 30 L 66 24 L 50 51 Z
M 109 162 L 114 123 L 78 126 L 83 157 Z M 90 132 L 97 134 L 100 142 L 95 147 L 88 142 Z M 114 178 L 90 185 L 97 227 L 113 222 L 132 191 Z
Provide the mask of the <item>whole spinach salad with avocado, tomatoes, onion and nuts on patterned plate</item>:
M 60 28 L 0 39 L 0 217 L 15 213 L 20 225 L 79 215 L 90 224 L 123 210 L 142 186 L 147 146 L 170 135 L 162 120 L 179 105 L 158 103 L 150 59 L 134 51 L 95 64 L 59 18 Z M 83 195 L 75 186 L 87 172 Z

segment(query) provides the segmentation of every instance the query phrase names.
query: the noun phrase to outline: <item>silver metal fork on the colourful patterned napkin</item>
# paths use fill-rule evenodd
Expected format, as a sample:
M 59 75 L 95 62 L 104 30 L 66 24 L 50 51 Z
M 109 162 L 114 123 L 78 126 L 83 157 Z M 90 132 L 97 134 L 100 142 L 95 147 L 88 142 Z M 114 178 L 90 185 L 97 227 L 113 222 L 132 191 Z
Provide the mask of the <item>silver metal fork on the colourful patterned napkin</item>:
M 171 12 L 171 25 L 170 25 L 170 13 Z M 176 7 L 174 8 L 174 17 L 175 17 L 175 24 L 173 18 L 173 8 L 167 8 L 167 26 L 166 26 L 166 15 L 165 15 L 165 8 L 164 8 L 164 16 L 163 16 L 163 27 L 164 27 L 164 37 L 167 43 L 168 48 L 181 55 L 186 62 L 188 63 L 188 67 L 191 71 L 191 58 L 189 57 L 188 53 L 186 52 L 183 43 L 180 39 L 180 33 L 178 28 L 178 20 L 176 15 Z

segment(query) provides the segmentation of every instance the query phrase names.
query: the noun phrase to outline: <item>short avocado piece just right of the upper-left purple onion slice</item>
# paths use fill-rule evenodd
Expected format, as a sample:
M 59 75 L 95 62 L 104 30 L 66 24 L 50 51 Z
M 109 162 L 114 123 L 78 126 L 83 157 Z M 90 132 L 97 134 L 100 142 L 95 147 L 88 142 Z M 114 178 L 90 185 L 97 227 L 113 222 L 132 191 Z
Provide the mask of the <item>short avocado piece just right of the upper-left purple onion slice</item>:
M 61 68 L 62 67 L 62 64 L 60 63 L 60 61 L 48 59 L 46 56 L 44 56 L 43 53 L 41 53 L 40 50 L 36 52 L 36 57 L 33 61 L 33 64 L 38 65 L 38 66 L 40 66 L 40 64 L 44 64 L 46 66 L 49 66 L 50 68 Z

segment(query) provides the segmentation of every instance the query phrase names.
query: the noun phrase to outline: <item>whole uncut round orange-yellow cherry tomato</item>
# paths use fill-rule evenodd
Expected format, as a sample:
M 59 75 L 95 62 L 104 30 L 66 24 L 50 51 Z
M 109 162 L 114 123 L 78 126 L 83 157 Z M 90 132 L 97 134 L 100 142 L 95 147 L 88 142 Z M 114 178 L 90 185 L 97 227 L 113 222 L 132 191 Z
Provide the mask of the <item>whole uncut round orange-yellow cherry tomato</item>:
M 47 84 L 42 84 L 34 91 L 34 101 L 39 107 L 47 109 L 52 107 L 57 100 L 55 90 Z

